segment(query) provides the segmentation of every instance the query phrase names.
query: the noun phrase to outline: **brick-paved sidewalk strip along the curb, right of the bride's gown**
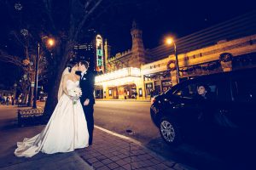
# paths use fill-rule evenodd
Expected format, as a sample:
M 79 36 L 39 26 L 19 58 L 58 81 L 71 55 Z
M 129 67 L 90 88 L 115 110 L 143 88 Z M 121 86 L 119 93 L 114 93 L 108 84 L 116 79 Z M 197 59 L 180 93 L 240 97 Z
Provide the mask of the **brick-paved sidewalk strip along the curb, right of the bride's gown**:
M 192 170 L 194 168 L 166 161 L 140 144 L 122 139 L 95 128 L 94 143 L 88 148 L 76 150 L 84 161 L 98 170 Z

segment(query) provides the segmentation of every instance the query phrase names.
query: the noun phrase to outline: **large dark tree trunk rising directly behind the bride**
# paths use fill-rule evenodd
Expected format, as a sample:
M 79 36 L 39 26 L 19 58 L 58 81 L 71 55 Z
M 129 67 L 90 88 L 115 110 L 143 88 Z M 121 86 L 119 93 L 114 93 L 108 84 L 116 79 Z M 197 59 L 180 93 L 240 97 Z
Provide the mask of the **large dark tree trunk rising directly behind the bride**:
M 99 8 L 102 0 L 70 0 L 68 6 L 62 6 L 67 11 L 61 13 L 66 16 L 66 22 L 60 23 L 55 20 L 54 12 L 55 3 L 53 1 L 44 0 L 44 12 L 47 15 L 47 20 L 50 23 L 50 31 L 57 37 L 58 46 L 56 47 L 57 54 L 55 54 L 54 65 L 55 72 L 49 83 L 52 84 L 49 89 L 48 99 L 45 105 L 44 113 L 51 115 L 57 103 L 57 91 L 61 81 L 61 74 L 64 70 L 67 60 L 73 57 L 73 47 L 79 42 L 79 34 L 85 26 L 85 23 L 90 20 L 90 16 L 94 14 Z M 54 8 L 55 7 L 55 8 Z M 63 26 L 66 24 L 66 26 Z M 87 25 L 88 26 L 88 25 Z

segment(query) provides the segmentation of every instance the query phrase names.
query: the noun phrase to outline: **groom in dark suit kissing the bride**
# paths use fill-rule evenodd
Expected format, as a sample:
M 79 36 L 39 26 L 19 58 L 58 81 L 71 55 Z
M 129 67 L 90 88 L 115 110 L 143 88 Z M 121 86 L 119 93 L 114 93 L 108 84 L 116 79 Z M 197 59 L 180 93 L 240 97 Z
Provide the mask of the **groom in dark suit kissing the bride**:
M 83 105 L 84 115 L 87 122 L 88 132 L 89 132 L 89 144 L 92 144 L 93 138 L 93 105 L 95 104 L 94 99 L 94 74 L 88 71 L 89 63 L 87 61 L 79 61 L 79 71 L 80 76 L 79 86 L 82 89 L 82 96 L 80 98 L 81 104 Z

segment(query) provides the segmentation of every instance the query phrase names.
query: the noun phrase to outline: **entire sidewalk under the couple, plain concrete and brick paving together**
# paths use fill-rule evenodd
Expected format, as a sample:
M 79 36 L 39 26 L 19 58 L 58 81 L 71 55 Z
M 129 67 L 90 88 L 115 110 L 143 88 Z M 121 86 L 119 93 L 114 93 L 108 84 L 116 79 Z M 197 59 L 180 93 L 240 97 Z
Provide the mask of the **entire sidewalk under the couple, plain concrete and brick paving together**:
M 2 115 L 3 110 L 1 108 L 0 110 Z M 43 128 L 44 126 L 16 127 L 15 124 L 6 129 L 3 128 L 0 131 L 0 170 L 193 169 L 174 161 L 166 161 L 136 140 L 97 126 L 93 144 L 88 148 L 53 155 L 40 152 L 32 158 L 15 157 L 13 153 L 16 142 L 40 133 Z

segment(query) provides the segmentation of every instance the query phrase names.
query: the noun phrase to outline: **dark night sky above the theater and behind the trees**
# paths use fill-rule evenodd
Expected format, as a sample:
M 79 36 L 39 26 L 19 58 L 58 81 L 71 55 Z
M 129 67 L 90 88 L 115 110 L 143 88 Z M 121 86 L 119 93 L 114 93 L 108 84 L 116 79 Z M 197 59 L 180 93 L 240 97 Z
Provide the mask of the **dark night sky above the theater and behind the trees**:
M 26 5 L 30 2 L 34 1 L 26 0 Z M 63 3 L 61 0 L 59 2 Z M 143 31 L 144 47 L 154 48 L 163 42 L 167 34 L 177 38 L 183 37 L 255 9 L 253 1 L 131 0 L 132 3 L 127 3 L 130 1 L 119 0 L 118 2 L 123 4 L 109 8 L 95 20 L 95 25 L 92 26 L 102 34 L 102 37 L 108 38 L 112 55 L 131 48 L 132 20 L 137 20 Z M 22 10 L 26 10 L 26 5 Z M 20 49 L 9 42 L 9 31 L 15 27 L 20 29 L 19 26 L 22 27 L 23 23 L 18 18 L 15 25 L 9 22 L 11 18 L 9 14 L 12 13 L 9 13 L 9 8 L 5 7 L 5 1 L 0 0 L 0 48 L 12 53 Z M 12 44 L 11 48 L 9 44 Z M 14 65 L 0 62 L 0 84 L 4 82 L 10 86 L 19 76 L 20 72 Z M 7 80 L 8 77 L 10 78 Z

